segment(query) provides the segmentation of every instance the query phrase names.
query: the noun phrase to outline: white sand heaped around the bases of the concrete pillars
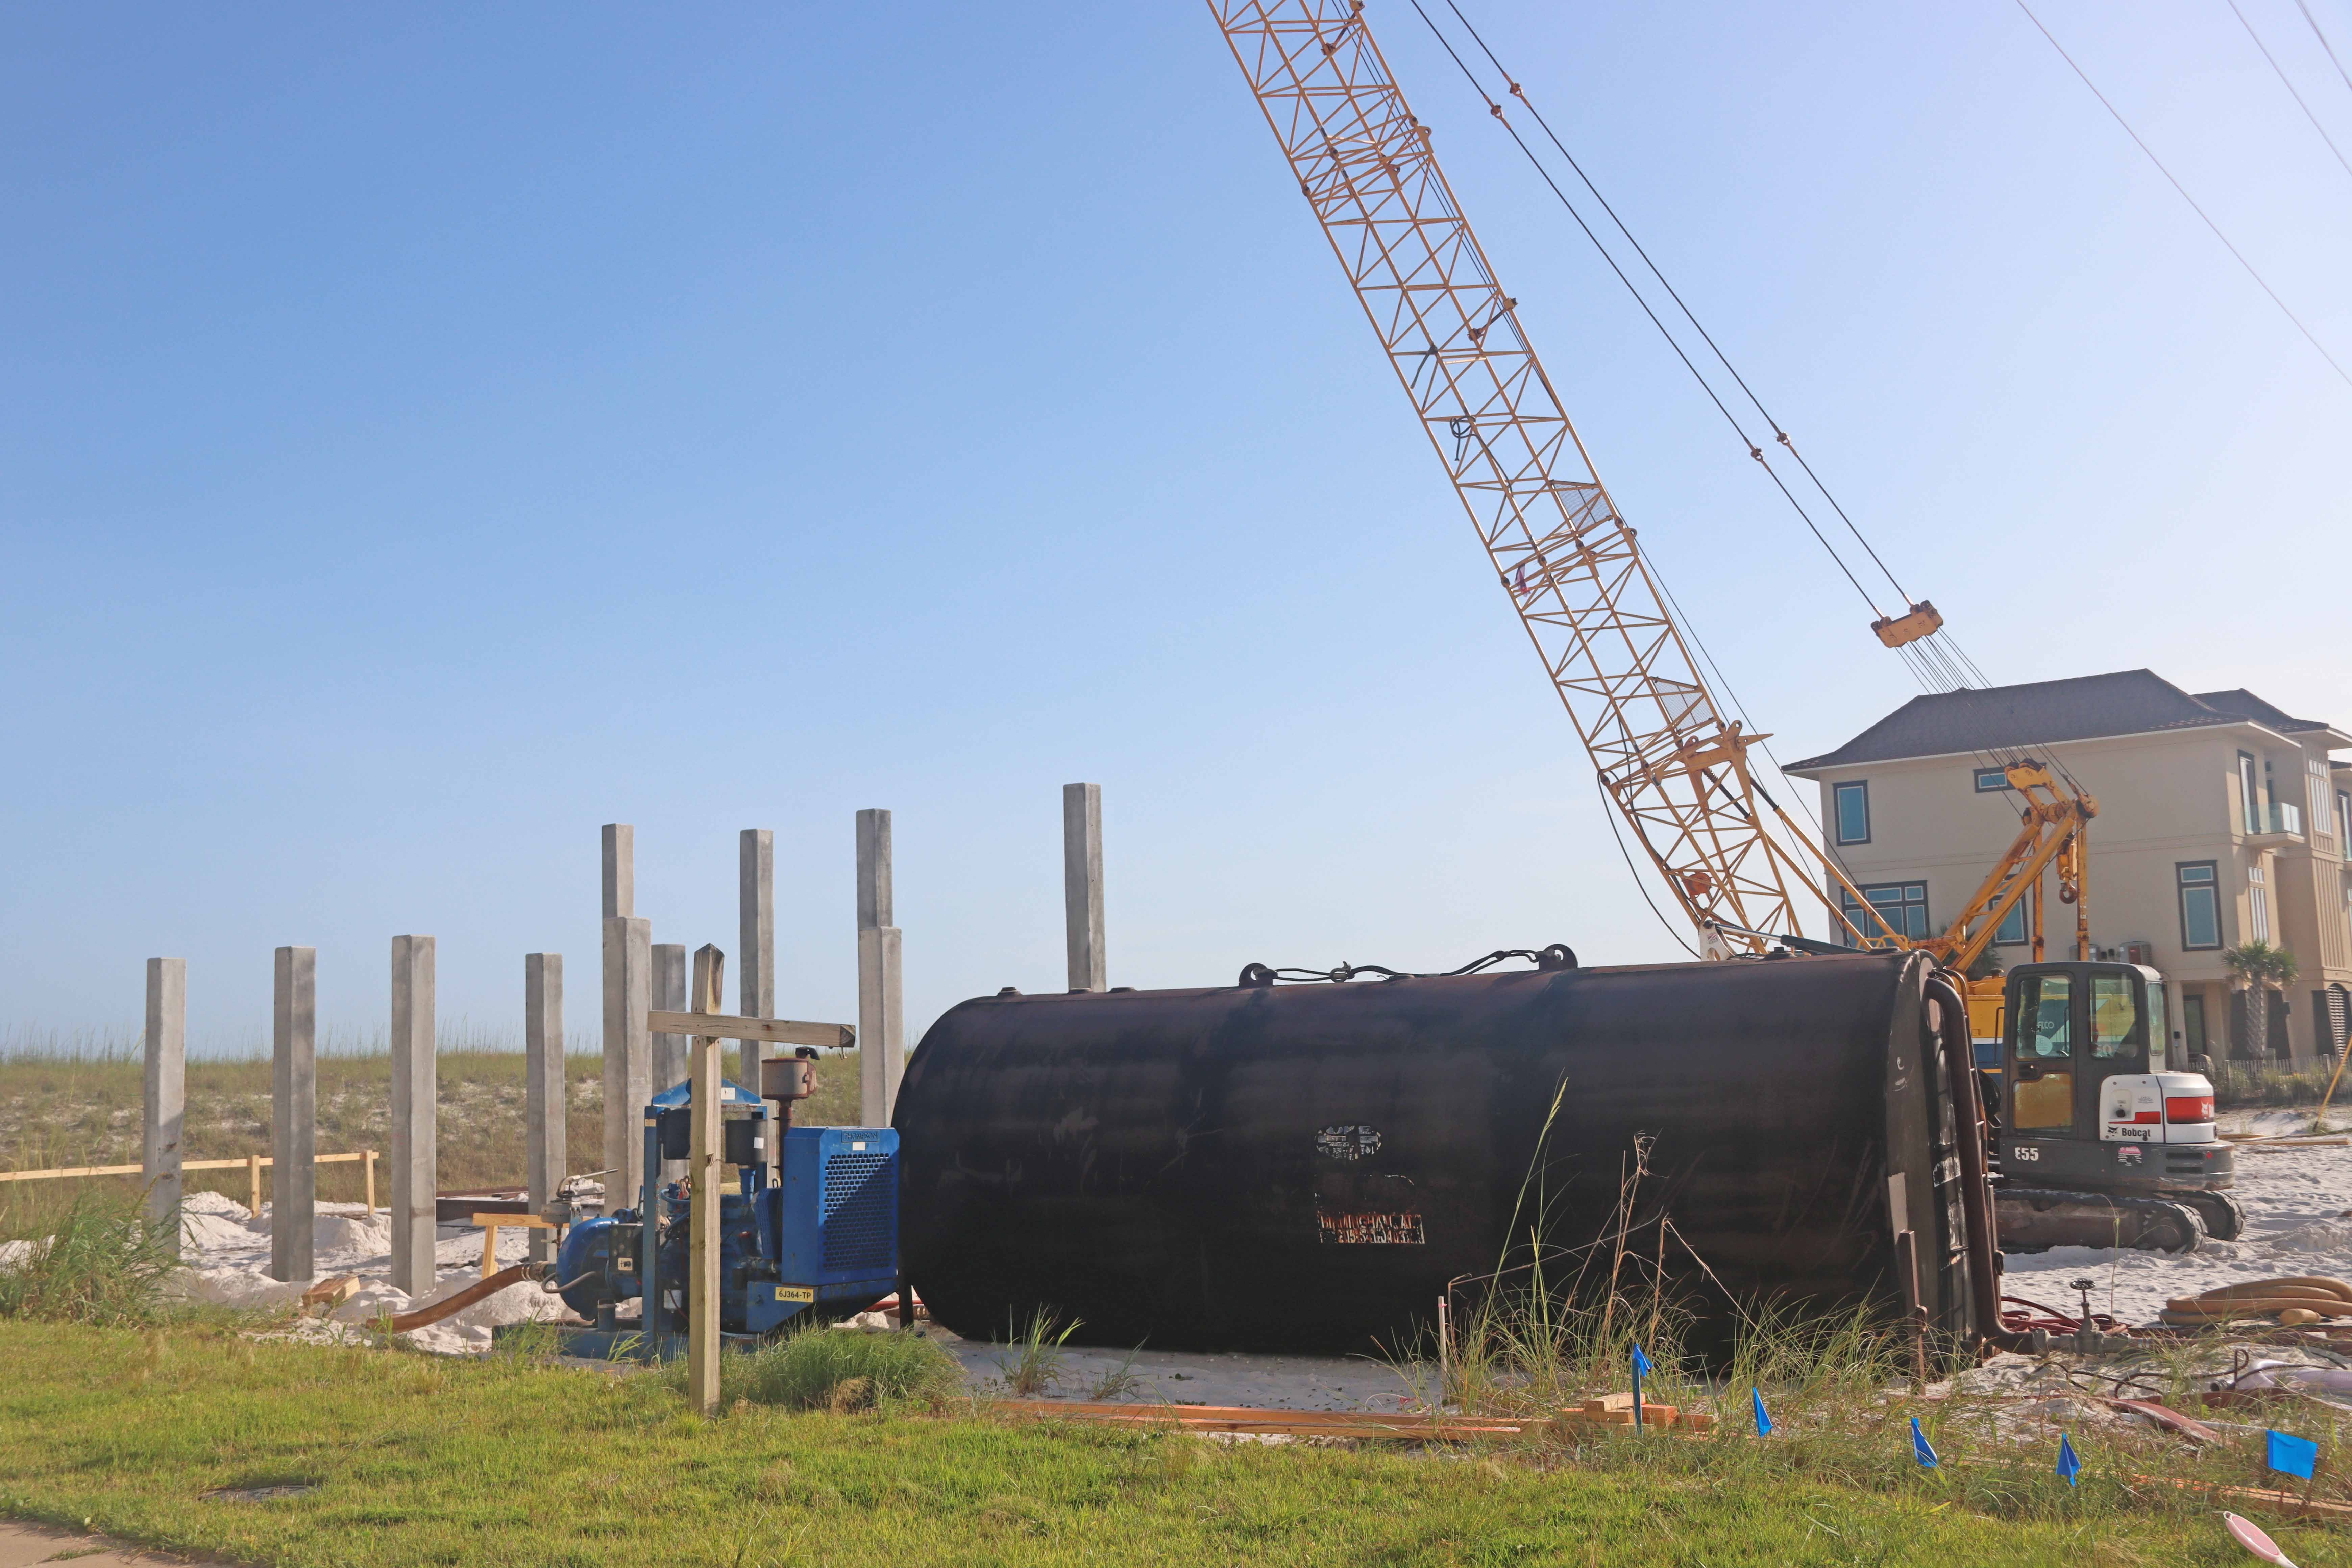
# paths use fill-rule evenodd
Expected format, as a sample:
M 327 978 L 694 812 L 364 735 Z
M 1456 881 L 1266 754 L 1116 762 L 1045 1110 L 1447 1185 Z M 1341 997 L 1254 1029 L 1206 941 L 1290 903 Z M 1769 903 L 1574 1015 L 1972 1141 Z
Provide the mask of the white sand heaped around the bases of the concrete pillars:
M 390 1215 L 369 1215 L 360 1204 L 320 1204 L 313 1232 L 315 1274 L 294 1281 L 270 1279 L 268 1215 L 268 1204 L 261 1206 L 261 1218 L 256 1220 L 245 1204 L 219 1192 L 191 1192 L 181 1204 L 181 1258 L 188 1262 L 188 1272 L 181 1274 L 181 1288 L 198 1300 L 226 1307 L 273 1307 L 299 1300 L 320 1279 L 353 1274 L 360 1281 L 360 1291 L 334 1309 L 334 1321 L 362 1326 L 386 1312 L 409 1312 L 456 1295 L 482 1279 L 482 1232 L 442 1225 L 433 1246 L 437 1262 L 433 1291 L 423 1298 L 395 1291 L 390 1284 Z M 529 1253 L 529 1237 L 520 1227 L 499 1232 L 499 1267 L 524 1262 Z M 414 1328 L 400 1338 L 419 1349 L 480 1354 L 489 1349 L 489 1331 L 499 1324 L 567 1316 L 572 1312 L 562 1300 L 546 1295 L 536 1284 L 517 1284 L 463 1312 L 445 1316 L 440 1324 Z

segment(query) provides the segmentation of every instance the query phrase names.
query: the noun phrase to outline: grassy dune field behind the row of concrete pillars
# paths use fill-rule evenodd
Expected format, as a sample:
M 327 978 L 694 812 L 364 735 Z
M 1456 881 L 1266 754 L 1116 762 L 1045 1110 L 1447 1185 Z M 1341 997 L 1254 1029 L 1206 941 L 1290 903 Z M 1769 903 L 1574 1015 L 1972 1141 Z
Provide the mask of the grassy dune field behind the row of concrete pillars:
M 332 1051 L 327 1046 L 334 1046 Z M 727 1051 L 729 1074 L 734 1048 Z M 522 1182 L 524 1065 L 520 1044 L 480 1032 L 445 1032 L 440 1077 L 440 1178 L 454 1187 Z M 604 1065 L 574 1051 L 564 1063 L 564 1138 L 574 1171 L 595 1171 L 604 1147 Z M 816 1098 L 795 1121 L 849 1126 L 858 1119 L 856 1053 L 828 1056 Z M 322 1041 L 318 1058 L 318 1150 L 390 1150 L 393 1067 L 381 1041 Z M 0 1171 L 139 1164 L 139 1041 L 0 1037 Z M 270 1150 L 268 1056 L 188 1063 L 188 1159 L 245 1159 Z M 318 1168 L 322 1201 L 358 1201 L 358 1164 Z M 263 1173 L 266 1192 L 268 1173 Z M 191 1171 L 188 1192 L 249 1197 L 245 1171 Z M 136 1178 L 0 1182 L 0 1225 L 35 1225 L 61 1213 L 75 1187 L 139 1190 Z M 383 1194 L 379 1192 L 379 1199 Z

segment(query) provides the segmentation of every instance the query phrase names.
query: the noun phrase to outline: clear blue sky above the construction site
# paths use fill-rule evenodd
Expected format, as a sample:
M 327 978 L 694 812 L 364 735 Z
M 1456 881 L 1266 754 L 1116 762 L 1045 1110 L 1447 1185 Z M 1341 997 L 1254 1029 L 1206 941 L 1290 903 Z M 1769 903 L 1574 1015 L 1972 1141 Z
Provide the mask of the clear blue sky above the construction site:
M 2291 0 L 2244 0 L 2352 148 Z M 2009 0 L 1468 7 L 1994 679 L 2352 722 L 2352 388 Z M 2352 179 L 2223 0 L 2039 5 L 2352 362 Z M 2312 0 L 2338 47 L 2352 5 Z M 1642 541 L 1783 757 L 1912 693 L 1435 52 L 1369 16 Z M 597 1018 L 656 940 L 854 1016 L 896 811 L 910 1027 L 1110 973 L 1675 952 L 1207 9 L 0 14 L 0 1027 L 381 1027 L 388 938 Z

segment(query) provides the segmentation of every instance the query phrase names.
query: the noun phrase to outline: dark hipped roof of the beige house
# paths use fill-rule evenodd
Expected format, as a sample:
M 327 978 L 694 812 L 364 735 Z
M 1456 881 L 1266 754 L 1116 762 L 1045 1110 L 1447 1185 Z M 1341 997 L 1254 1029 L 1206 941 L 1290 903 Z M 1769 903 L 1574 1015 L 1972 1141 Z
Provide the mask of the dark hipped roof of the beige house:
M 1860 762 L 1950 757 L 2244 722 L 2281 733 L 2328 729 L 2319 719 L 2291 719 L 2251 691 L 2190 696 L 2152 670 L 2114 670 L 2112 675 L 2077 675 L 2023 686 L 1915 696 L 1835 752 L 1792 762 L 1783 771 L 1806 773 Z

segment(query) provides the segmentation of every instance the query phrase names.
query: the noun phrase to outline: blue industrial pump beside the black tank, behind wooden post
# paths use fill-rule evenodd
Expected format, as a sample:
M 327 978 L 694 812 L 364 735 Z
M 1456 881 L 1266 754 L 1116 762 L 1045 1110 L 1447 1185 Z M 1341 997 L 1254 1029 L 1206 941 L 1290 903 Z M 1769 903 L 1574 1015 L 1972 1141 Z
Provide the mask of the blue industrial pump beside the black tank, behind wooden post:
M 720 1086 L 720 1159 L 736 1171 L 720 1194 L 720 1333 L 729 1338 L 842 1319 L 898 1291 L 898 1133 L 790 1126 L 793 1100 L 814 1088 L 809 1058 L 760 1063 L 767 1098 Z M 687 1333 L 691 1197 L 684 1182 L 661 1185 L 661 1161 L 687 1159 L 691 1105 L 691 1084 L 654 1095 L 637 1208 L 574 1225 L 555 1253 L 557 1293 L 595 1321 L 572 1335 L 572 1354 L 609 1356 L 623 1328 L 619 1302 L 649 1293 L 656 1307 L 628 1326 L 642 1354 L 668 1354 Z

